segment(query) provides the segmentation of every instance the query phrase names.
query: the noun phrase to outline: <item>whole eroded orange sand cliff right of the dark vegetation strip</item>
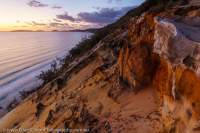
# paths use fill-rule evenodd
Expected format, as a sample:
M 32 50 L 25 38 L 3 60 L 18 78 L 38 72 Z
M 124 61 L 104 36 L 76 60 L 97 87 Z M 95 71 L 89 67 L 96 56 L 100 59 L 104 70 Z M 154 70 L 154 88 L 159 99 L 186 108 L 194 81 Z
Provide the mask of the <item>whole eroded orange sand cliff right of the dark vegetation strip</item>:
M 113 31 L 4 116 L 0 129 L 200 132 L 200 10 L 194 3 L 131 18 L 128 28 Z

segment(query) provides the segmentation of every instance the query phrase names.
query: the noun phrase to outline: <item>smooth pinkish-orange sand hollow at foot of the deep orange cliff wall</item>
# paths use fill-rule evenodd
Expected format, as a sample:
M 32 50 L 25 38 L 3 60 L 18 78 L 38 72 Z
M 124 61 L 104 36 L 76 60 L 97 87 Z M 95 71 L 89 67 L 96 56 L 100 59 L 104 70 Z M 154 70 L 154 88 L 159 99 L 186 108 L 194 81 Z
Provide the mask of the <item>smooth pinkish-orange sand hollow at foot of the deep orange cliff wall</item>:
M 120 109 L 112 113 L 113 132 L 157 133 L 161 129 L 155 92 L 146 88 L 141 92 L 125 92 L 119 97 Z

